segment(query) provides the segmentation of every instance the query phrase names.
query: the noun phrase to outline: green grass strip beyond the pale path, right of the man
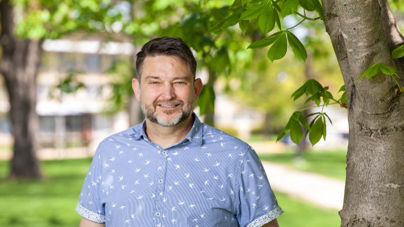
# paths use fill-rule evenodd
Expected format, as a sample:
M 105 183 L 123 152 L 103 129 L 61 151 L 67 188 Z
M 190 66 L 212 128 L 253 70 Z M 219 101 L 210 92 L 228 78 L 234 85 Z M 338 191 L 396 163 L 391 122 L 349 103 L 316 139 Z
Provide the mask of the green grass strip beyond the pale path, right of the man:
M 345 181 L 346 151 L 308 151 L 299 161 L 295 159 L 293 152 L 260 154 L 260 158 Z

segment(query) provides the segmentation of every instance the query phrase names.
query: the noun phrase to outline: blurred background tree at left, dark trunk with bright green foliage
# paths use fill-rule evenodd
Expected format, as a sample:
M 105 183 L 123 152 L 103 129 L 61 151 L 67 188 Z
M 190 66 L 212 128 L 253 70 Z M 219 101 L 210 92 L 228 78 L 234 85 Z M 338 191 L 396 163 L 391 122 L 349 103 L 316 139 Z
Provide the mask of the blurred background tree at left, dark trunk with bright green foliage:
M 9 95 L 14 138 L 11 178 L 42 176 L 35 156 L 36 75 L 42 41 L 80 29 L 106 32 L 121 18 L 113 9 L 111 2 L 97 0 L 0 2 L 0 73 Z

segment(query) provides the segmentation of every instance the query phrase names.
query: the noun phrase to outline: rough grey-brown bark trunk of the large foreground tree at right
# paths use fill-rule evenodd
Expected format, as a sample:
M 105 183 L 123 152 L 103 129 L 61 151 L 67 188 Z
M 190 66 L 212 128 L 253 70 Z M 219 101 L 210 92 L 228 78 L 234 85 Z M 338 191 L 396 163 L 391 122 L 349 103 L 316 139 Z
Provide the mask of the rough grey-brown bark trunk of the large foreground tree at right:
M 403 43 L 386 0 L 323 0 L 348 97 L 349 145 L 341 226 L 404 226 L 404 97 L 385 75 L 355 80 L 373 63 L 397 69 Z M 398 81 L 404 85 L 404 81 Z

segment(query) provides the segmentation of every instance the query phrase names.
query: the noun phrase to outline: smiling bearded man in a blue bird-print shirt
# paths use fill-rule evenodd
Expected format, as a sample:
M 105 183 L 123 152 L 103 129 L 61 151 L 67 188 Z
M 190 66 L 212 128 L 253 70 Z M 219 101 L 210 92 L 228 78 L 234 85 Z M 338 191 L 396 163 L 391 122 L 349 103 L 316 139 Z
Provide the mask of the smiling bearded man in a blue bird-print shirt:
M 80 226 L 278 226 L 283 210 L 256 152 L 193 113 L 203 84 L 189 47 L 150 40 L 136 72 L 146 119 L 98 145 Z

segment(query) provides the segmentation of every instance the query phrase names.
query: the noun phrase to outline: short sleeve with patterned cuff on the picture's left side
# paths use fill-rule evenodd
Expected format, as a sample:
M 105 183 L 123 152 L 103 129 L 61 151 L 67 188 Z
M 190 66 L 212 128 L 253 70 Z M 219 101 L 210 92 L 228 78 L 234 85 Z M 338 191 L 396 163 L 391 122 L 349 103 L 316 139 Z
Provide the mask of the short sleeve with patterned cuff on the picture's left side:
M 84 179 L 83 187 L 79 195 L 79 203 L 76 211 L 82 217 L 97 222 L 105 222 L 105 209 L 100 201 L 100 181 L 101 181 L 101 154 L 98 145 L 90 168 Z

